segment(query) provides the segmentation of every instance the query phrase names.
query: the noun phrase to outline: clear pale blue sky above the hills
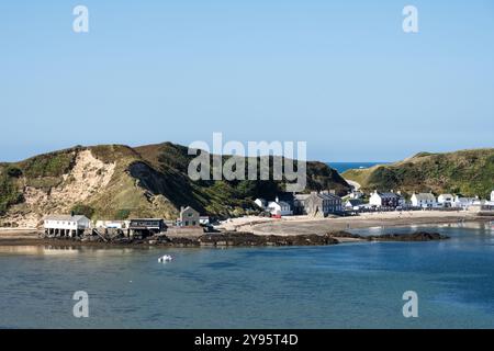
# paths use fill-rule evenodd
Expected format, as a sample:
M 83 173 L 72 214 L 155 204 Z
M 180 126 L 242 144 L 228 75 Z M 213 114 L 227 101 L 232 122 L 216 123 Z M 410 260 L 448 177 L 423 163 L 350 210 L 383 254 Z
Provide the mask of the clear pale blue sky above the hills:
M 492 0 L 1 1 L 0 45 L 2 161 L 213 132 L 324 161 L 494 146 Z

